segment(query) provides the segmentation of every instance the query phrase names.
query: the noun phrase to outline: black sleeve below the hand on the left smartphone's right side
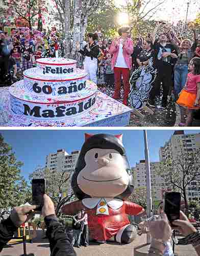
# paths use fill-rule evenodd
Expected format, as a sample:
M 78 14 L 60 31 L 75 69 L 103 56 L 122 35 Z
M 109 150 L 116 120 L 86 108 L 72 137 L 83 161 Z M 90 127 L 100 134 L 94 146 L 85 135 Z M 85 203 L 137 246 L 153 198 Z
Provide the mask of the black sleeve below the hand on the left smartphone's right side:
M 71 245 L 69 234 L 64 226 L 54 215 L 44 218 L 47 230 L 46 237 L 49 240 L 51 256 L 77 256 Z

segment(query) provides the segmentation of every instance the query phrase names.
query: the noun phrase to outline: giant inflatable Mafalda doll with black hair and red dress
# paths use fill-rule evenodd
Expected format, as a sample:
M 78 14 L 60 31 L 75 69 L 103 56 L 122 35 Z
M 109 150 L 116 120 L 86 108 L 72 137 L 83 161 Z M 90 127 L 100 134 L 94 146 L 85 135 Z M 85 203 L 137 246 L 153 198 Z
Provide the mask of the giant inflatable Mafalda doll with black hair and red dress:
M 127 215 L 141 214 L 142 206 L 126 201 L 134 185 L 122 135 L 85 135 L 71 186 L 79 199 L 62 207 L 66 215 L 85 209 L 90 238 L 131 243 L 137 234 Z

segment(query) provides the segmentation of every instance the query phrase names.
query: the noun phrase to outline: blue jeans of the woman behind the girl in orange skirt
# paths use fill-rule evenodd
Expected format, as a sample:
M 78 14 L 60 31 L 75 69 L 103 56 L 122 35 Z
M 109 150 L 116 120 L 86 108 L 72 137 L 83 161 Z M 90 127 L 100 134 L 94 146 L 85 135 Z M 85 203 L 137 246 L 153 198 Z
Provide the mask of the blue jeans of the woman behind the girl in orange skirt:
M 174 91 L 178 95 L 185 86 L 188 75 L 188 65 L 176 65 L 174 69 Z

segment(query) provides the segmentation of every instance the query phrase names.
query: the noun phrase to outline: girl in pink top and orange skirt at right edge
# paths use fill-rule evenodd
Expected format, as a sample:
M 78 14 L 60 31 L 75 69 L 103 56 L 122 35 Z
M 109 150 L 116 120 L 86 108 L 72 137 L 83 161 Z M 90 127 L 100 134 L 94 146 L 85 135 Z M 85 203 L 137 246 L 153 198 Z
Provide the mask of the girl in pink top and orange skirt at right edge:
M 189 64 L 190 73 L 188 74 L 185 87 L 179 95 L 177 103 L 187 108 L 187 118 L 185 126 L 191 126 L 193 111 L 200 109 L 200 58 L 193 58 Z M 181 111 L 181 115 L 183 115 Z M 183 116 L 181 117 L 183 120 Z M 182 124 L 184 126 L 184 124 Z

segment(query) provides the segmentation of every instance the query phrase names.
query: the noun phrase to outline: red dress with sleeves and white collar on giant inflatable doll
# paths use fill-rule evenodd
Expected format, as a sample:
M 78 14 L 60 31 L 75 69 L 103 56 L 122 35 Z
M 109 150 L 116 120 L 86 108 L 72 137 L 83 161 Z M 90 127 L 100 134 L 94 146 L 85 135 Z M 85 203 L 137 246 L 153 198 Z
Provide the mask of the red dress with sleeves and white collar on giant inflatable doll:
M 137 215 L 143 209 L 138 204 L 120 199 L 86 198 L 66 204 L 62 212 L 73 214 L 83 208 L 88 214 L 90 237 L 102 241 L 109 240 L 121 228 L 130 224 L 127 214 Z

